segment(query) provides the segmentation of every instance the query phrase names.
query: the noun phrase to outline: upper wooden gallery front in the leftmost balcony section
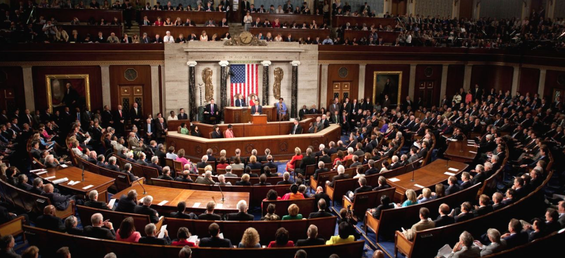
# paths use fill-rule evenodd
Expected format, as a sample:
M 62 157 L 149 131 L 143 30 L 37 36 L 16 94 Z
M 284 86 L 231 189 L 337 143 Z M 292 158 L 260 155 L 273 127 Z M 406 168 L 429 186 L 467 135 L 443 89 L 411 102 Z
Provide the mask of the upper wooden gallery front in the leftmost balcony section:
M 124 20 L 121 10 L 36 8 L 35 11 L 37 12 L 35 15 L 38 18 L 39 16 L 44 16 L 45 20 L 50 20 L 51 17 L 54 17 L 59 23 L 70 23 L 75 17 L 79 18 L 81 23 L 86 23 L 90 18 L 94 18 L 97 22 L 100 19 L 111 22 L 114 20 L 114 17 L 117 17 L 122 22 Z

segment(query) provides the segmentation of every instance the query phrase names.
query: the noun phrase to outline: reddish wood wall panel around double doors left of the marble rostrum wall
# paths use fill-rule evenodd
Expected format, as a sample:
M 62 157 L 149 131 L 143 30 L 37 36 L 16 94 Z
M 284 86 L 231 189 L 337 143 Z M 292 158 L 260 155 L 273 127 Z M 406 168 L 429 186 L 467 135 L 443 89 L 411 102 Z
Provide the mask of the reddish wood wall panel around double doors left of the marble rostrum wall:
M 134 69 L 137 72 L 137 78 L 128 81 L 124 73 L 127 69 Z M 160 79 L 159 79 L 160 80 Z M 131 85 L 141 86 L 143 88 L 143 105 L 142 110 L 144 116 L 153 113 L 152 94 L 158 94 L 157 90 L 151 90 L 151 67 L 149 65 L 111 65 L 110 66 L 110 95 L 111 109 L 116 110 L 119 104 L 119 86 Z M 133 104 L 133 103 L 131 103 Z M 125 107 L 124 107 L 125 109 Z M 153 114 L 155 116 L 155 114 Z M 163 115 L 167 116 L 167 115 Z

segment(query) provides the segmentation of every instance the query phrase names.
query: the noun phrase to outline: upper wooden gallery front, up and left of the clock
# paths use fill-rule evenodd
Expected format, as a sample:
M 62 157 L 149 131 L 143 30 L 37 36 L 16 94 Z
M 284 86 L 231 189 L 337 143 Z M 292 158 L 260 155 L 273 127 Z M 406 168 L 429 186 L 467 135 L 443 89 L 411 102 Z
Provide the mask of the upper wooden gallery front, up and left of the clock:
M 165 21 L 168 17 L 171 21 L 175 21 L 179 17 L 184 23 L 186 19 L 194 21 L 195 24 L 205 24 L 210 18 L 219 23 L 221 19 L 225 18 L 225 12 L 195 12 L 195 11 L 141 11 L 141 19 L 147 16 L 147 19 L 154 23 L 157 18 Z

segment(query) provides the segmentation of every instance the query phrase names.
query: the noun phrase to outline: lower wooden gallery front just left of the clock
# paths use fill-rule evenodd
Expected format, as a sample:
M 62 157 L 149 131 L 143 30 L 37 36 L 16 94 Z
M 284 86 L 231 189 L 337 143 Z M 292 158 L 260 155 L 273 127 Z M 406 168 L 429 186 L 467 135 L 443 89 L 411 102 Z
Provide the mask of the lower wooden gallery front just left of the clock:
M 208 40 L 212 39 L 212 35 L 218 34 L 218 40 L 220 40 L 221 36 L 223 36 L 226 32 L 229 32 L 228 27 L 204 27 L 204 26 L 195 26 L 195 27 L 185 27 L 185 26 L 140 26 L 140 36 L 143 33 L 147 33 L 152 40 L 155 39 L 155 34 L 159 34 L 160 38 L 164 38 L 167 35 L 167 31 L 171 32 L 171 36 L 176 38 L 179 37 L 179 34 L 182 34 L 184 38 L 188 38 L 190 34 L 194 33 L 199 38 L 203 31 L 206 31 L 206 35 L 208 35 Z M 141 37 L 140 37 L 141 38 Z

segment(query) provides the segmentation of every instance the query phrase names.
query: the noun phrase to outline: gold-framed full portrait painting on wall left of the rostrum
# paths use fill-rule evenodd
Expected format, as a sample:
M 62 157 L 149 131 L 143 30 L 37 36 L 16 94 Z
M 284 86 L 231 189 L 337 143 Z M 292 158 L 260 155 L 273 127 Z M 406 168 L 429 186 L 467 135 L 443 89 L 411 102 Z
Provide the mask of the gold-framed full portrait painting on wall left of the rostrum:
M 79 107 L 90 110 L 90 84 L 88 75 L 46 75 L 47 107 L 52 112 L 63 112 L 65 107 L 73 112 Z

